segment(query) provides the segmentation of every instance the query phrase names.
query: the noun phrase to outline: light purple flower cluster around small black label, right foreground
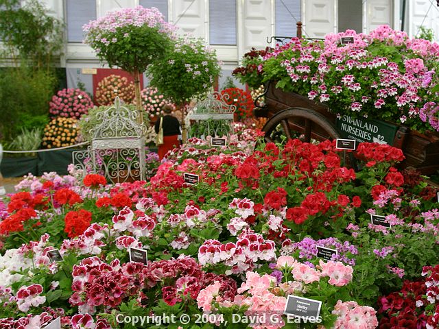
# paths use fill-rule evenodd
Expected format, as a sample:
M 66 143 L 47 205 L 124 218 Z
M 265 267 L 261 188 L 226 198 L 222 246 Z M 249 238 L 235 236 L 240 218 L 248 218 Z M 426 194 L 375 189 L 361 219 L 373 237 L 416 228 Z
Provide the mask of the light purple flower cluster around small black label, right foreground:
M 318 241 L 312 238 L 305 238 L 300 242 L 292 244 L 293 250 L 299 251 L 299 258 L 307 258 L 309 260 L 316 258 L 318 246 L 337 250 L 337 255 L 334 254 L 331 257 L 331 260 L 335 262 L 342 262 L 351 266 L 355 265 L 355 259 L 351 258 L 351 255 L 357 255 L 358 250 L 355 245 L 351 245 L 351 243 L 348 243 L 348 241 L 341 243 L 332 237 L 328 239 L 320 239 Z

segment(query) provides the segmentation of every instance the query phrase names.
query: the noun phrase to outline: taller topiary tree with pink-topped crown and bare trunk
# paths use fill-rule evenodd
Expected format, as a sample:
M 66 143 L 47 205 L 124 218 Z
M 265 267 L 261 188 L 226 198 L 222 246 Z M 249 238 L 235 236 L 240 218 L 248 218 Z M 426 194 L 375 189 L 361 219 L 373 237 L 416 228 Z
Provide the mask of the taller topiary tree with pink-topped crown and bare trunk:
M 84 42 L 99 60 L 119 66 L 134 76 L 139 120 L 142 119 L 140 74 L 153 62 L 163 62 L 172 48 L 175 27 L 163 20 L 157 8 L 124 8 L 84 25 Z

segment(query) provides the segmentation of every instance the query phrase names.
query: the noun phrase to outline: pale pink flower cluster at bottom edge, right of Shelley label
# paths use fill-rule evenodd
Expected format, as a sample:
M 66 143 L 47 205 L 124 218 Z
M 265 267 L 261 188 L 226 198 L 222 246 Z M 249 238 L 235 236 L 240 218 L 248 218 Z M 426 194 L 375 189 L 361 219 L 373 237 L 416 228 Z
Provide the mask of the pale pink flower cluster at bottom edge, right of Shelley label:
M 333 315 L 337 315 L 334 329 L 374 329 L 378 326 L 377 312 L 370 306 L 359 306 L 357 302 L 335 304 Z

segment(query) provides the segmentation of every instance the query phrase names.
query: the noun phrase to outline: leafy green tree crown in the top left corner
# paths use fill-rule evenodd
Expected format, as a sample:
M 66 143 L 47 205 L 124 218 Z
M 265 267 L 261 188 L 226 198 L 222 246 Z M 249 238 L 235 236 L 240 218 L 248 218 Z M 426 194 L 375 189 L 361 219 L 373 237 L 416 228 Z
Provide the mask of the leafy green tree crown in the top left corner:
M 43 5 L 36 0 L 26 1 L 21 7 L 19 0 L 0 0 L 5 10 L 0 11 L 0 38 L 8 56 L 24 60 L 37 69 L 49 67 L 54 56 L 60 56 L 62 22 L 49 16 Z

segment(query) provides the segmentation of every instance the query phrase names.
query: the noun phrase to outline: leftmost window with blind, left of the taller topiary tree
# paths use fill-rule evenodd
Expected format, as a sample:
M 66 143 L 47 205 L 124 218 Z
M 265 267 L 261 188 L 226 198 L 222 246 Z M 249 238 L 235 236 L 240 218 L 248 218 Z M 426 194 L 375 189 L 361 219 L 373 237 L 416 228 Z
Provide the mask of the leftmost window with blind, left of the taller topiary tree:
M 82 25 L 96 19 L 96 0 L 67 0 L 67 41 L 82 42 Z

